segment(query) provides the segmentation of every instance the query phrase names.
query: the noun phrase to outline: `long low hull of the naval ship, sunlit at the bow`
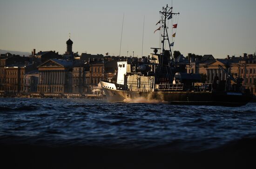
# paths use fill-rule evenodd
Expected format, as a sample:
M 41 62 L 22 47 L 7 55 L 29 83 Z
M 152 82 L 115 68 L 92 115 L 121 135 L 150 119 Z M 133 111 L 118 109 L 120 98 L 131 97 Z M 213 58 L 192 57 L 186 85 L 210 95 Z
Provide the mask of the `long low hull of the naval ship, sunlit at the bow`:
M 140 92 L 104 88 L 110 102 L 166 102 L 180 105 L 243 106 L 251 94 L 230 92 Z

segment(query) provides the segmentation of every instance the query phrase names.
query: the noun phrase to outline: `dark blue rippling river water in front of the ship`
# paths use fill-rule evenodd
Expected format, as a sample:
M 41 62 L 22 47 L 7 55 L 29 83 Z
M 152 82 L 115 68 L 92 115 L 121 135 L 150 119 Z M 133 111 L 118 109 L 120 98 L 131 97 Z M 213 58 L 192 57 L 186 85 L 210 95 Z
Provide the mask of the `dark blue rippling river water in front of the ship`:
M 0 98 L 0 144 L 7 147 L 197 153 L 231 146 L 233 152 L 256 143 L 255 138 L 256 103 L 223 107 Z

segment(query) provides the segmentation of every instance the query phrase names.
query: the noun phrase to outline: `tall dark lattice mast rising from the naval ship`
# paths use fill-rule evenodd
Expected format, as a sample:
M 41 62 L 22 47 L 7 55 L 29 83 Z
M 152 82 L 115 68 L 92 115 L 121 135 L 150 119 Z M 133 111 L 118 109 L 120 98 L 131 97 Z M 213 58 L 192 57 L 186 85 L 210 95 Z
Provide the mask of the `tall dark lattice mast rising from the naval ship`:
M 171 60 L 173 60 L 173 56 L 172 56 L 172 50 L 171 50 L 171 44 L 170 44 L 170 40 L 169 40 L 169 37 L 168 37 L 168 27 L 166 26 L 166 19 L 172 19 L 172 16 L 173 15 L 176 15 L 176 14 L 180 14 L 180 13 L 173 13 L 172 12 L 172 9 L 173 7 L 168 7 L 168 5 L 166 5 L 166 7 L 162 7 L 162 11 L 160 11 L 159 13 L 162 14 L 162 23 L 163 23 L 163 40 L 162 40 L 162 55 L 164 55 L 164 51 L 165 51 L 165 46 L 164 46 L 164 41 L 165 40 L 168 40 L 168 46 L 169 46 L 169 51 L 170 51 L 170 54 L 171 54 Z M 162 57 L 163 58 L 163 57 Z

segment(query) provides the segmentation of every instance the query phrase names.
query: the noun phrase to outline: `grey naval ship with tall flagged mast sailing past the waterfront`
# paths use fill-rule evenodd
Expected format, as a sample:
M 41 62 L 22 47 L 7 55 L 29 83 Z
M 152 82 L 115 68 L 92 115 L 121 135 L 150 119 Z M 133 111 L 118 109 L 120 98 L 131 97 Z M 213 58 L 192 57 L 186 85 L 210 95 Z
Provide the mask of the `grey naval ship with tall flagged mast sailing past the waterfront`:
M 108 101 L 243 106 L 252 99 L 252 94 L 242 86 L 243 79 L 234 78 L 229 69 L 222 66 L 219 69 L 227 73 L 226 81 L 215 77 L 213 83 L 202 83 L 200 74 L 181 72 L 179 65 L 174 62 L 171 50 L 174 42 L 169 40 L 166 24 L 167 20 L 180 13 L 174 13 L 173 7 L 167 5 L 162 7 L 160 14 L 162 19 L 158 23 L 162 26 L 157 30 L 163 31 L 162 48 L 151 48 L 154 53 L 143 57 L 141 62 L 132 59 L 117 62 L 117 75 L 112 80 L 101 81 Z M 177 24 L 172 26 L 176 28 Z

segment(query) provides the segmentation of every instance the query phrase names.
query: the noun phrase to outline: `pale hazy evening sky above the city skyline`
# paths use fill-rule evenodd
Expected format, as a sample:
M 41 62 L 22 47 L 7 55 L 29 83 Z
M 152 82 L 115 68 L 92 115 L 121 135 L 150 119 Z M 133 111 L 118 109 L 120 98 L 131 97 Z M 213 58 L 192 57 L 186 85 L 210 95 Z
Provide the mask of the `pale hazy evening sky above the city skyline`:
M 121 56 L 134 51 L 140 57 L 143 37 L 148 56 L 151 47 L 160 47 L 155 24 L 167 4 L 180 13 L 173 19 L 178 24 L 173 50 L 184 56 L 256 52 L 256 0 L 0 0 L 0 49 L 63 54 L 70 33 L 79 54 L 118 56 L 121 42 Z

